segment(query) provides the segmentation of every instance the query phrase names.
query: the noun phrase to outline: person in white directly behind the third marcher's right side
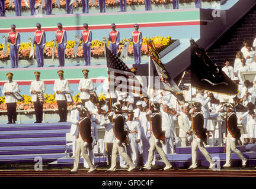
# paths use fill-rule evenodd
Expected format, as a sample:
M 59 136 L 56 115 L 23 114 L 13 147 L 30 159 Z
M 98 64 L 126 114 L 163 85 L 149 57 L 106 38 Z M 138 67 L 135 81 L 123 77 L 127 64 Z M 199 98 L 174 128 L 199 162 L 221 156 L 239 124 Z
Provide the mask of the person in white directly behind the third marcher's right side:
M 168 105 L 163 105 L 162 107 L 162 131 L 165 131 L 165 145 L 163 145 L 163 150 L 165 154 L 174 153 L 174 139 L 176 138 L 176 132 L 174 128 L 174 120 L 177 117 L 168 113 Z

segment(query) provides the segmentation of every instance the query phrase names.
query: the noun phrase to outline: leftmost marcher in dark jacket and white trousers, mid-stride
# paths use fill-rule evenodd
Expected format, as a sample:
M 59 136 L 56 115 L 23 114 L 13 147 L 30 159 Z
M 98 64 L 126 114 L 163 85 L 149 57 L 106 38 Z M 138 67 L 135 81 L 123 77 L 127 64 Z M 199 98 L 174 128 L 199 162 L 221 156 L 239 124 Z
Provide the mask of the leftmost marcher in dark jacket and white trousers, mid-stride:
M 92 136 L 91 136 L 91 120 L 88 118 L 88 110 L 86 107 L 81 107 L 79 122 L 78 136 L 76 137 L 76 155 L 73 169 L 70 171 L 71 174 L 75 174 L 78 171 L 78 164 L 80 159 L 80 154 L 82 152 L 82 157 L 87 161 L 89 165 L 89 171 L 96 171 L 96 168 L 89 158 L 88 150 L 92 149 Z

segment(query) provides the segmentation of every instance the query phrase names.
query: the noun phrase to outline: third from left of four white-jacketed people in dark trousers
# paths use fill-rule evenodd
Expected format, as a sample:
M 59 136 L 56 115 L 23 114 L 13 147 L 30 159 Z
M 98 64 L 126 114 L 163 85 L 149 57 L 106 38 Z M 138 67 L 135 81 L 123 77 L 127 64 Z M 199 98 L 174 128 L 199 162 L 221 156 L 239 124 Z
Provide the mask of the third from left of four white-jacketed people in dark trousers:
M 67 102 L 65 99 L 66 92 L 69 92 L 69 82 L 64 79 L 63 76 L 64 71 L 59 70 L 57 74 L 59 74 L 59 79 L 55 80 L 55 84 L 53 86 L 53 90 L 55 92 L 55 99 L 57 100 L 57 106 L 59 110 L 60 120 L 59 122 L 66 122 L 67 119 Z

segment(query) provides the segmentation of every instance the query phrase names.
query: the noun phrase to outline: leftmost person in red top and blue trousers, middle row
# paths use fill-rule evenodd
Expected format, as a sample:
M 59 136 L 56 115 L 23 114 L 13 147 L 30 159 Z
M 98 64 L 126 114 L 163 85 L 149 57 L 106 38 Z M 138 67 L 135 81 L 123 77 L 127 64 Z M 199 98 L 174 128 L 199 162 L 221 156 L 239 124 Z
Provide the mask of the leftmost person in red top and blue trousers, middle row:
M 18 50 L 20 48 L 20 33 L 15 30 L 16 26 L 11 25 L 11 30 L 8 34 L 10 58 L 11 58 L 11 68 L 18 67 Z

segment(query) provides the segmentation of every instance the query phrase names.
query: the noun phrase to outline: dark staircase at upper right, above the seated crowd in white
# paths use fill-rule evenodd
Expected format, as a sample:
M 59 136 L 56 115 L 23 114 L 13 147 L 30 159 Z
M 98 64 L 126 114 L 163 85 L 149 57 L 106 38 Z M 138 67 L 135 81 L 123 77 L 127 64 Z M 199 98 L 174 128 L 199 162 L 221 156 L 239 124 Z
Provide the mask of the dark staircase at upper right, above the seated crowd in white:
M 252 45 L 255 38 L 256 6 L 209 48 L 209 56 L 215 61 L 217 66 L 225 66 L 224 61 L 226 58 L 228 58 L 229 63 L 233 66 L 236 53 L 244 46 L 243 41 L 248 40 L 249 44 Z

